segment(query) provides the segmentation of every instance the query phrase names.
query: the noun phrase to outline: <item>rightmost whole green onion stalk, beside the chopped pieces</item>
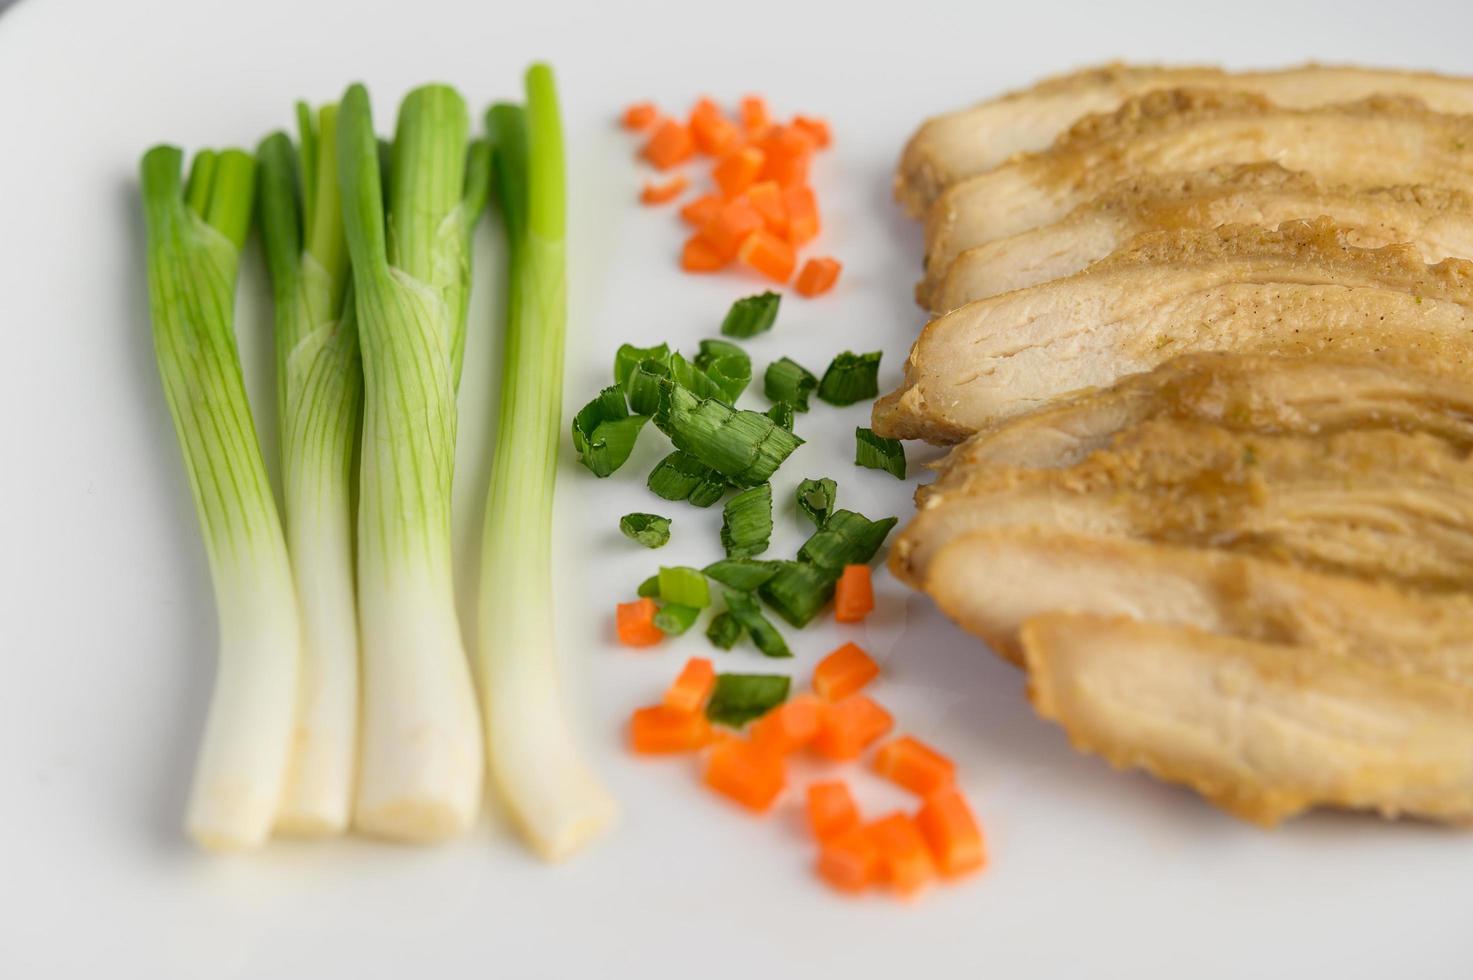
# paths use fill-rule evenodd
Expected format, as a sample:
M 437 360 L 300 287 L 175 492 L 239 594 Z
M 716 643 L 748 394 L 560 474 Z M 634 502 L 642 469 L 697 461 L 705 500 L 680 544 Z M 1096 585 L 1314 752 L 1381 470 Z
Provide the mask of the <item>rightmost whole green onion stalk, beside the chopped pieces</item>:
M 477 656 L 492 774 L 533 849 L 557 859 L 608 827 L 617 808 L 577 750 L 557 672 L 551 561 L 567 321 L 563 131 L 552 71 L 532 66 L 526 91 L 526 109 L 496 105 L 486 116 L 510 292 Z

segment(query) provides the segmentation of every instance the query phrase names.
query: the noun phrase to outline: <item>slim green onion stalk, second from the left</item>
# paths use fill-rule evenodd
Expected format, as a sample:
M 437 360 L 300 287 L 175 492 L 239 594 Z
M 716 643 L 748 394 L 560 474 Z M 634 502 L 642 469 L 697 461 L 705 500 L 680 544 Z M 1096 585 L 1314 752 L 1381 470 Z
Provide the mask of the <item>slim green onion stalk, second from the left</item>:
M 268 136 L 261 242 L 275 301 L 277 408 L 287 547 L 302 610 L 302 690 L 277 815 L 289 834 L 337 834 L 358 753 L 354 451 L 362 413 L 358 329 L 337 193 L 337 108 L 298 106 L 300 150 Z

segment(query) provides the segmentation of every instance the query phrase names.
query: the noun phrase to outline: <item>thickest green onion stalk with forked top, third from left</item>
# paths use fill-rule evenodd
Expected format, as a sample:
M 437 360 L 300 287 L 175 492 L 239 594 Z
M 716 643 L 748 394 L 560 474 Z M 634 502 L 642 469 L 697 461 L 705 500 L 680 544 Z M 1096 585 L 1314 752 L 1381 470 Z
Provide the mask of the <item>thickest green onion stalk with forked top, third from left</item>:
M 465 103 L 411 91 L 389 161 L 387 218 L 368 93 L 337 116 L 343 227 L 362 348 L 358 503 L 362 734 L 355 825 L 398 840 L 468 830 L 485 759 L 451 576 L 455 388 L 470 231 L 488 149 Z M 480 181 L 480 186 L 476 183 Z

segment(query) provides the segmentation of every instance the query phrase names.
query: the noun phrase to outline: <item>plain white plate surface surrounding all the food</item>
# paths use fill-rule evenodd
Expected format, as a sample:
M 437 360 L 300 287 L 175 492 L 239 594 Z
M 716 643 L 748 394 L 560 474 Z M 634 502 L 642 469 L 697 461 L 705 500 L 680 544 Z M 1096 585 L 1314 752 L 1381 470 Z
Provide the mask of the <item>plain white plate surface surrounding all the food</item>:
M 881 579 L 860 640 L 903 728 L 953 752 L 993 867 L 922 900 L 844 900 L 812 877 L 792 799 L 767 819 L 698 788 L 686 762 L 622 749 L 689 635 L 616 648 L 610 610 L 658 560 L 716 557 L 717 513 L 654 501 L 641 444 L 597 483 L 564 454 L 561 654 L 583 740 L 625 806 L 616 836 L 558 868 L 492 816 L 458 844 L 355 840 L 193 852 L 180 813 L 212 676 L 214 612 L 159 393 L 134 167 L 159 140 L 252 146 L 292 100 L 352 80 L 387 127 L 412 84 L 473 106 L 560 72 L 573 153 L 567 410 L 622 340 L 694 348 L 754 283 L 675 271 L 673 214 L 633 203 L 642 175 L 613 127 L 627 102 L 769 94 L 828 116 L 820 249 L 840 290 L 785 304 L 750 345 L 757 370 L 884 348 L 882 383 L 921 323 L 919 234 L 890 168 L 922 116 L 1108 57 L 1273 65 L 1318 57 L 1469 71 L 1466 3 L 554 4 L 430 0 L 25 0 L 0 18 L 0 977 L 1467 977 L 1473 839 L 1312 816 L 1265 834 L 1189 794 L 1075 756 L 1021 678 Z M 496 233 L 477 242 L 461 396 L 458 513 L 474 541 L 495 379 Z M 239 333 L 271 433 L 270 318 L 252 249 Z M 760 398 L 751 402 L 760 405 Z M 784 469 L 840 480 L 841 503 L 904 514 L 906 485 L 854 470 L 862 407 L 800 416 Z M 912 473 L 918 473 L 912 452 Z M 654 504 L 658 504 L 657 507 Z M 627 510 L 675 517 L 655 557 L 619 538 Z M 803 536 L 779 510 L 775 554 Z M 474 569 L 467 550 L 461 567 Z M 463 606 L 473 575 L 463 575 Z M 807 676 L 834 626 L 790 631 Z M 764 669 L 750 650 L 728 669 Z M 797 783 L 801 785 L 804 774 Z M 903 800 L 854 775 L 871 808 Z

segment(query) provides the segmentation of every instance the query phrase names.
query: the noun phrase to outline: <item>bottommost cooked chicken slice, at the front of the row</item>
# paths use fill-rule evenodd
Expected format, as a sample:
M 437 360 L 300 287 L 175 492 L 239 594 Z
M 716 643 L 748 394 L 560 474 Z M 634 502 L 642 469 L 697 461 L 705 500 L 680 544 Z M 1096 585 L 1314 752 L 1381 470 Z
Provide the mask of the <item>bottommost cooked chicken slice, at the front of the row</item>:
M 1473 691 L 1315 647 L 1130 619 L 1024 623 L 1028 694 L 1081 752 L 1264 827 L 1311 806 L 1473 818 Z

